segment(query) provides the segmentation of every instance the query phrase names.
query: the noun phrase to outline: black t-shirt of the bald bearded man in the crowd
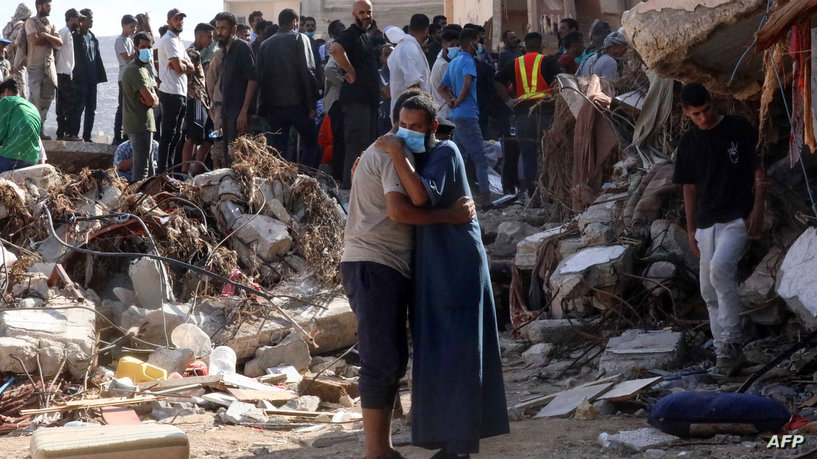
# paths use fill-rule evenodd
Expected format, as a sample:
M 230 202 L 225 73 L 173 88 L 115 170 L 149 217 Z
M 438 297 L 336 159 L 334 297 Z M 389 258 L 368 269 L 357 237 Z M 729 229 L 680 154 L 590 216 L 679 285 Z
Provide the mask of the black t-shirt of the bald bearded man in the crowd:
M 352 24 L 336 40 L 346 50 L 349 63 L 355 68 L 355 82 L 344 81 L 340 88 L 340 103 L 356 102 L 377 105 L 380 100 L 380 79 L 377 75 L 377 50 L 365 30 Z

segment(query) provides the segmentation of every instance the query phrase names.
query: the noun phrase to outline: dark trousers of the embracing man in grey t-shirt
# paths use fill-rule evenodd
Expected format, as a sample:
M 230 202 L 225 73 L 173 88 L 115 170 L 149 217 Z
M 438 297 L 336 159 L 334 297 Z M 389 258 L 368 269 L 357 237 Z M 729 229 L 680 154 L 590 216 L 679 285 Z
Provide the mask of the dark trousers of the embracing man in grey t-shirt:
M 393 268 L 367 261 L 341 263 L 340 277 L 357 318 L 360 404 L 391 409 L 408 364 L 411 280 Z

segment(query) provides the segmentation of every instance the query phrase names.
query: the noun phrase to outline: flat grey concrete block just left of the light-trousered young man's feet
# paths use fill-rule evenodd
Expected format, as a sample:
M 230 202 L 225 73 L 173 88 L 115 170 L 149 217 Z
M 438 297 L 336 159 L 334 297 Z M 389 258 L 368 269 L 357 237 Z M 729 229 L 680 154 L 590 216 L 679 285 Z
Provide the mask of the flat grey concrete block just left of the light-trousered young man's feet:
M 606 375 L 676 368 L 684 358 L 684 334 L 673 331 L 627 330 L 610 338 L 599 361 Z

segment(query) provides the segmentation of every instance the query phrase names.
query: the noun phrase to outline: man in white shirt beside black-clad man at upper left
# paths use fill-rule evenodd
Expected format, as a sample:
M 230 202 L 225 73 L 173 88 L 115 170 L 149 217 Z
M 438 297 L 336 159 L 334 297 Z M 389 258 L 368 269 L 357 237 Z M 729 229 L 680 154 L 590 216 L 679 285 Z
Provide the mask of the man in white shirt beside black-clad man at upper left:
M 60 29 L 62 46 L 57 49 L 57 140 L 80 140 L 69 137 L 69 117 L 73 112 L 74 88 L 71 74 L 74 72 L 74 32 L 79 30 L 79 21 L 84 18 L 76 8 L 65 12 L 65 27 Z

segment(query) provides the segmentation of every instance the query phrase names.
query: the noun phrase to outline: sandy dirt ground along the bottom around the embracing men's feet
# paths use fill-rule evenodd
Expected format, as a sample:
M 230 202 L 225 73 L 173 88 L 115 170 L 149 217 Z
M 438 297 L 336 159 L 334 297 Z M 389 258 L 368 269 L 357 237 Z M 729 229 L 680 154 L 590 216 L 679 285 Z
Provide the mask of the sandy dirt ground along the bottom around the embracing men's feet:
M 509 405 L 537 393 L 550 393 L 555 386 L 536 382 L 532 369 L 506 369 L 506 393 Z M 401 393 L 403 406 L 410 408 L 410 395 Z M 357 407 L 359 410 L 359 407 Z M 143 418 L 145 422 L 155 422 Z M 311 427 L 312 431 L 261 430 L 252 427 L 227 426 L 214 421 L 214 413 L 179 417 L 172 424 L 184 430 L 190 440 L 194 458 L 363 458 L 363 431 L 360 424 L 349 430 L 337 426 Z M 599 434 L 647 427 L 645 418 L 617 414 L 591 421 L 575 419 L 524 419 L 511 422 L 511 433 L 482 441 L 484 458 L 615 458 L 615 457 L 682 457 L 686 458 L 765 458 L 783 457 L 766 449 L 766 442 L 753 437 L 719 436 L 689 440 L 658 451 L 631 456 L 602 448 Z M 81 427 L 77 427 L 81 429 Z M 396 449 L 408 459 L 431 457 L 434 452 L 409 445 L 411 427 L 406 419 L 394 423 Z M 0 439 L 0 458 L 29 457 L 30 436 Z M 789 456 L 787 457 L 803 457 Z M 158 459 L 158 458 L 157 458 Z

